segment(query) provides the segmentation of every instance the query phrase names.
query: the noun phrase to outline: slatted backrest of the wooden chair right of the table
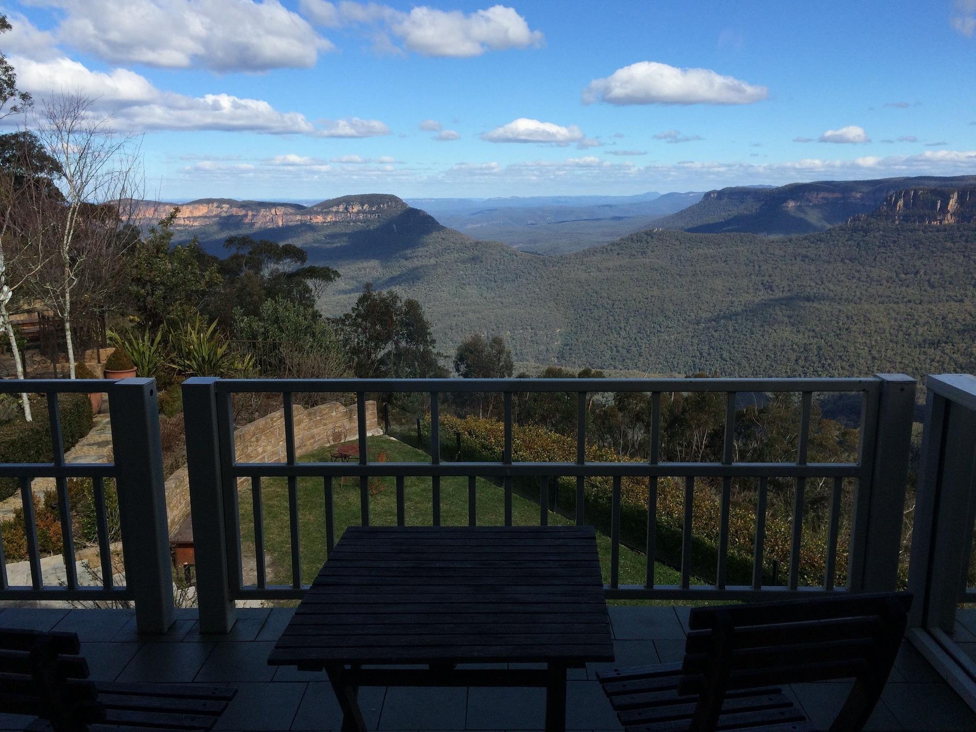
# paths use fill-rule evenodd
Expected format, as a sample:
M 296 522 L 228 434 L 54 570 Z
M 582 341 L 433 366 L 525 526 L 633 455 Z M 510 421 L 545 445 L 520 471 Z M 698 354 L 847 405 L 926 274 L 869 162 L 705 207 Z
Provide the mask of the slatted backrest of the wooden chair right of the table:
M 703 726 L 693 728 L 713 727 L 727 691 L 854 678 L 832 729 L 860 729 L 891 672 L 911 605 L 911 593 L 885 592 L 694 608 L 678 685 L 700 695 Z

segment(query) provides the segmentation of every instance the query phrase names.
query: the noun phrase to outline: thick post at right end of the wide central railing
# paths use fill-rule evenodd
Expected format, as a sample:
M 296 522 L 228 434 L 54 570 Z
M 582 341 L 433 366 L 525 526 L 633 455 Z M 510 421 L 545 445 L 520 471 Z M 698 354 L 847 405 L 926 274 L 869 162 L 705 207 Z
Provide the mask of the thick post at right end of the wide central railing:
M 848 557 L 848 588 L 882 592 L 898 585 L 898 561 L 902 544 L 905 489 L 915 416 L 915 379 L 905 374 L 875 374 L 881 381 L 871 450 L 871 476 L 860 481 Z M 867 511 L 860 517 L 858 511 Z

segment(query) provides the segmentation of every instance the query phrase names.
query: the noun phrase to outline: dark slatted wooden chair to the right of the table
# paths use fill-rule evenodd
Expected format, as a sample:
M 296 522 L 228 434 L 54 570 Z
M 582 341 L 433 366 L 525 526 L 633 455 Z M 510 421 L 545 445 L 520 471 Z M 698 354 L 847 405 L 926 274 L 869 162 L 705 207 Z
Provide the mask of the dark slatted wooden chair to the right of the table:
M 780 685 L 853 678 L 831 730 L 862 729 L 905 634 L 908 592 L 700 607 L 684 661 L 602 671 L 627 732 L 809 730 Z

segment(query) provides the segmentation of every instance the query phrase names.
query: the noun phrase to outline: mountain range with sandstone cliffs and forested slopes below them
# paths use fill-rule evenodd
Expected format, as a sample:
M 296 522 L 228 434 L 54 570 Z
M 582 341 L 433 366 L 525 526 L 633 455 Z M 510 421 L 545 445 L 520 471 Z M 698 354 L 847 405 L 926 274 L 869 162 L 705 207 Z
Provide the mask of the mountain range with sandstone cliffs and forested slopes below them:
M 821 230 L 784 235 L 788 224 Z M 183 205 L 176 229 L 215 252 L 234 234 L 303 246 L 309 264 L 343 275 L 320 302 L 327 315 L 366 282 L 393 288 L 424 305 L 445 352 L 482 332 L 506 336 L 522 362 L 653 373 L 976 369 L 976 177 L 712 191 L 650 228 L 553 256 L 473 239 L 380 194 L 306 207 L 204 199 Z

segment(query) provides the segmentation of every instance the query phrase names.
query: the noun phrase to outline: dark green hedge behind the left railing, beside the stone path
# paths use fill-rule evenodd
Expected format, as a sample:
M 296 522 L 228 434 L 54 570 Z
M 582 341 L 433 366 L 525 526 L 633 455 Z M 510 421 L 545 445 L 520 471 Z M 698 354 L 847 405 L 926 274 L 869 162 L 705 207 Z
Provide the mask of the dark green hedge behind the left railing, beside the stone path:
M 61 438 L 67 452 L 92 429 L 94 417 L 88 394 L 60 394 Z M 33 422 L 13 420 L 0 426 L 0 463 L 50 463 L 51 426 L 44 396 L 31 399 Z M 17 478 L 0 478 L 0 500 L 13 496 L 20 488 Z

